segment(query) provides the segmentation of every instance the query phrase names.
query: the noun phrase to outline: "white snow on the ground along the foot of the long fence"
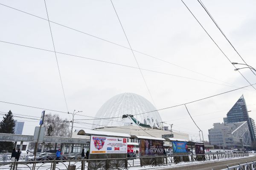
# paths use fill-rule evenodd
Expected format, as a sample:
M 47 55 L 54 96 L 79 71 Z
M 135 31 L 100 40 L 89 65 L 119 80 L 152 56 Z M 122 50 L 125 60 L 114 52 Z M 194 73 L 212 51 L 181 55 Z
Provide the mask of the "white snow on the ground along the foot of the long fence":
M 250 154 L 249 157 L 251 156 L 255 156 L 256 154 Z M 169 167 L 176 167 L 176 166 L 182 166 L 182 165 L 189 165 L 189 164 L 204 164 L 207 162 L 213 162 L 213 161 L 224 161 L 224 160 L 230 160 L 230 159 L 239 159 L 242 157 L 237 157 L 237 158 L 222 158 L 222 159 L 215 159 L 215 160 L 211 160 L 211 161 L 193 161 L 193 162 L 180 162 L 180 163 L 170 163 L 168 165 L 160 165 L 160 166 L 143 166 L 140 167 L 140 159 L 134 159 L 133 160 L 128 160 L 128 169 L 129 170 L 147 170 L 147 169 L 158 169 L 158 168 L 169 168 Z M 75 162 L 75 161 L 70 161 L 70 162 L 60 162 L 58 164 L 56 164 L 56 170 L 67 170 L 68 165 L 76 165 L 76 169 L 81 169 L 81 162 Z M 87 163 L 85 163 L 85 165 L 87 166 Z M 33 164 L 19 164 L 18 168 L 19 170 L 30 170 L 30 168 L 32 169 Z M 49 170 L 51 167 L 51 163 L 38 163 L 36 164 L 36 168 L 35 170 Z M 9 170 L 9 164 L 6 165 L 0 165 L 0 169 L 1 170 Z

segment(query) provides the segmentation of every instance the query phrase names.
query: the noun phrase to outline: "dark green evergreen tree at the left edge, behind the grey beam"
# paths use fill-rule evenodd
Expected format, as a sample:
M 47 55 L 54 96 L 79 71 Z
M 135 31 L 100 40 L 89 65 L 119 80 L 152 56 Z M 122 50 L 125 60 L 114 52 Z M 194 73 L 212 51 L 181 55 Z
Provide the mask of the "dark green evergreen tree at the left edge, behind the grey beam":
M 15 121 L 13 119 L 13 115 L 11 110 L 3 116 L 3 120 L 0 121 L 0 133 L 11 133 L 14 134 Z M 7 150 L 12 152 L 14 148 L 13 142 L 0 142 L 0 152 L 2 150 Z

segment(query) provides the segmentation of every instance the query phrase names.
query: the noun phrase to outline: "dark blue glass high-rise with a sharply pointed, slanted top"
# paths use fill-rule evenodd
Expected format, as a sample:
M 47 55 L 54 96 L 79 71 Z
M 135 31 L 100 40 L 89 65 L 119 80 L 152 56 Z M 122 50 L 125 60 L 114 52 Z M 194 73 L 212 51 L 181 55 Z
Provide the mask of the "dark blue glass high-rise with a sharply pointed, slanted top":
M 242 95 L 236 104 L 230 109 L 227 113 L 227 117 L 223 118 L 225 124 L 227 123 L 236 123 L 247 121 L 247 125 L 250 131 L 250 136 L 252 141 L 256 141 L 256 127 L 254 120 L 249 117 L 246 103 L 244 100 L 244 95 Z

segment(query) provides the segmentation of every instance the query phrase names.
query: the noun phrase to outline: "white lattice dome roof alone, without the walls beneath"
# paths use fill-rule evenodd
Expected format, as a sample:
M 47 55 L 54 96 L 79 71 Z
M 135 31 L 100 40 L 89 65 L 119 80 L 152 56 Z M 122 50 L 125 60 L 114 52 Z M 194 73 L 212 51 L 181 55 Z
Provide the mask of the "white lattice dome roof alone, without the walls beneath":
M 134 93 L 121 93 L 112 97 L 111 99 L 106 101 L 105 104 L 102 105 L 102 107 L 96 114 L 96 118 L 102 119 L 94 120 L 93 124 L 96 124 L 96 127 L 124 126 L 125 123 L 131 123 L 132 121 L 128 118 L 122 119 L 122 115 L 134 115 L 134 118 L 136 118 L 137 121 L 140 121 L 140 123 L 142 124 L 147 124 L 151 127 L 161 128 L 162 126 L 160 122 L 162 122 L 162 119 L 159 113 L 154 110 L 156 110 L 156 108 L 153 106 L 153 104 L 151 104 L 144 97 Z M 144 112 L 149 113 L 136 115 Z M 133 122 L 133 125 L 136 124 Z

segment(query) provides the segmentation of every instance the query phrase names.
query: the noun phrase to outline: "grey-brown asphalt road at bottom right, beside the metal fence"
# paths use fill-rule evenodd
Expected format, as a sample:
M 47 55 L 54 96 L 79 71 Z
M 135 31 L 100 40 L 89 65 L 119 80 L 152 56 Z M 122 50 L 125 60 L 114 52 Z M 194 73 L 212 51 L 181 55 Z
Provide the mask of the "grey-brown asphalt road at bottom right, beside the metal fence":
M 245 158 L 239 158 L 239 159 L 230 159 L 230 160 L 224 160 L 224 161 L 212 161 L 212 162 L 205 162 L 205 163 L 199 163 L 199 164 L 188 164 L 188 165 L 177 165 L 176 167 L 169 167 L 164 168 L 165 170 L 221 170 L 224 168 L 227 168 L 227 165 L 229 167 L 244 164 L 247 162 L 252 162 L 256 160 L 255 156 L 245 157 Z

